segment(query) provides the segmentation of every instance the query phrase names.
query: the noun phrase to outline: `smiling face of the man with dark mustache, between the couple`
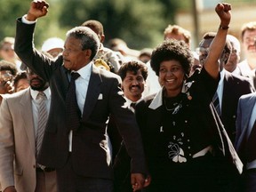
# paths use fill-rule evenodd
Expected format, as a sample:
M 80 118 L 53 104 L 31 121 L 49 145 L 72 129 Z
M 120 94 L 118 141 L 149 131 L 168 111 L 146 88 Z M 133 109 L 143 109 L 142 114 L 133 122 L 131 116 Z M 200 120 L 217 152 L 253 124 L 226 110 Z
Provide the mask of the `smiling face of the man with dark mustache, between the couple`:
M 134 74 L 133 71 L 127 71 L 122 87 L 126 98 L 132 101 L 140 100 L 145 87 L 145 79 L 141 71 L 139 70 L 137 74 Z

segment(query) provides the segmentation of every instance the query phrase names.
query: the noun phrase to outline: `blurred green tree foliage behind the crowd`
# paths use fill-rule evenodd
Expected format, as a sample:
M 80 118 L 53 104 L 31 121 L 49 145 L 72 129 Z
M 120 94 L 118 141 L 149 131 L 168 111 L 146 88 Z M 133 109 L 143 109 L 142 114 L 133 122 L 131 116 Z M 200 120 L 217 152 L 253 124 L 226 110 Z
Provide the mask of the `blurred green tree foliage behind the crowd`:
M 31 0 L 1 0 L 0 38 L 15 36 L 16 18 L 28 12 Z M 114 37 L 131 48 L 154 47 L 163 40 L 164 28 L 174 21 L 177 2 L 172 0 L 48 0 L 47 17 L 38 20 L 35 44 L 51 36 L 65 38 L 66 31 L 85 20 L 100 20 L 106 44 Z M 175 2 L 175 4 L 173 3 Z

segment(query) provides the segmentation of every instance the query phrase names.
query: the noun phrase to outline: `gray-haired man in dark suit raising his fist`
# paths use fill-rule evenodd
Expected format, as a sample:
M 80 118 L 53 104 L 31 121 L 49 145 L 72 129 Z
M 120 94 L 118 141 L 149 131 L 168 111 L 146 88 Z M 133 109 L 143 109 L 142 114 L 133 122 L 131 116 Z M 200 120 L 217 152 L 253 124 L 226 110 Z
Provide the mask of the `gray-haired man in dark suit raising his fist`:
M 113 172 L 106 134 L 106 122 L 111 114 L 132 156 L 132 187 L 134 190 L 143 188 L 143 174 L 147 170 L 140 130 L 132 110 L 125 107 L 120 77 L 93 65 L 100 42 L 90 28 L 69 30 L 64 51 L 56 60 L 37 52 L 33 44 L 35 23 L 46 15 L 48 7 L 44 1 L 30 4 L 28 14 L 17 20 L 14 47 L 29 68 L 49 81 L 52 90 L 38 162 L 56 168 L 60 192 L 111 192 Z M 72 108 L 69 106 L 71 99 L 67 100 L 71 94 L 68 86 L 76 91 L 73 98 L 76 106 Z M 69 114 L 71 111 L 73 113 Z

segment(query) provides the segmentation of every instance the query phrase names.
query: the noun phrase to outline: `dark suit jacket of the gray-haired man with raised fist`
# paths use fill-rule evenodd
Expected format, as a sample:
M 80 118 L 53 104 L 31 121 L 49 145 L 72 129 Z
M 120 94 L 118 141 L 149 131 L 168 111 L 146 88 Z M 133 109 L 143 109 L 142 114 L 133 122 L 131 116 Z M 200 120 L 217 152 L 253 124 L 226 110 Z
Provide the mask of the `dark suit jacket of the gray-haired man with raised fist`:
M 29 68 L 50 83 L 52 105 L 38 161 L 49 167 L 60 168 L 68 159 L 69 132 L 65 113 L 68 71 L 62 65 L 61 55 L 57 60 L 51 60 L 36 51 L 33 44 L 35 26 L 17 20 L 15 52 Z M 120 84 L 119 76 L 92 66 L 81 126 L 73 132 L 72 163 L 77 174 L 95 178 L 112 177 L 106 139 L 109 114 L 115 116 L 119 132 L 132 156 L 131 171 L 146 172 L 140 130 L 132 111 L 122 107 L 125 100 Z

